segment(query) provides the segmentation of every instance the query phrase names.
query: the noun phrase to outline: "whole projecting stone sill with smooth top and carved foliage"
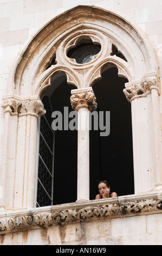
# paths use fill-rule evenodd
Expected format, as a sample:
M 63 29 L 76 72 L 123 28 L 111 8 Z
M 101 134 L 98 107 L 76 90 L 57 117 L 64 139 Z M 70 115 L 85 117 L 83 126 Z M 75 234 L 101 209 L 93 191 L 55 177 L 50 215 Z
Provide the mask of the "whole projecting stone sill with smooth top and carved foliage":
M 90 200 L 0 214 L 0 234 L 25 231 L 62 222 L 123 218 L 162 212 L 162 192 Z

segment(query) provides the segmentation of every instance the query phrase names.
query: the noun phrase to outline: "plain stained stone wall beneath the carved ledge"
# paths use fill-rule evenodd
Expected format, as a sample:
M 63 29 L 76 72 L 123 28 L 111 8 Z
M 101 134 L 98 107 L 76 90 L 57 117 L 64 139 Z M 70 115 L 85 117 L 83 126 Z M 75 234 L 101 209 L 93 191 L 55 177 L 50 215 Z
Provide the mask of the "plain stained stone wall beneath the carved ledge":
M 161 214 L 55 225 L 0 235 L 1 245 L 161 245 Z

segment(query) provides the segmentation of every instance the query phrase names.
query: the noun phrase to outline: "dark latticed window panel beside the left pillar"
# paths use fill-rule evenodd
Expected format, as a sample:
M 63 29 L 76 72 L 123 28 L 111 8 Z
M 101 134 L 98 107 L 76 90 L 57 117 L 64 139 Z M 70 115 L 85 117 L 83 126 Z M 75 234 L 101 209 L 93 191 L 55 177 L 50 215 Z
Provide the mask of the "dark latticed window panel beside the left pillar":
M 52 109 L 48 96 L 44 96 L 42 102 L 48 111 L 41 117 L 40 121 L 37 206 L 47 206 L 53 202 L 54 131 L 51 129 Z

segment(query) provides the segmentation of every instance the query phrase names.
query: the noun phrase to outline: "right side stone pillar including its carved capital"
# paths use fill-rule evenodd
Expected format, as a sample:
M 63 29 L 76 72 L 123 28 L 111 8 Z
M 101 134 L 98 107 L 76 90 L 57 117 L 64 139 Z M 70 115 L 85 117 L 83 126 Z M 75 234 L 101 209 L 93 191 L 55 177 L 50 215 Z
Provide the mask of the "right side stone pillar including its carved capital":
M 162 190 L 158 78 L 146 75 L 128 83 L 124 93 L 132 105 L 135 193 Z

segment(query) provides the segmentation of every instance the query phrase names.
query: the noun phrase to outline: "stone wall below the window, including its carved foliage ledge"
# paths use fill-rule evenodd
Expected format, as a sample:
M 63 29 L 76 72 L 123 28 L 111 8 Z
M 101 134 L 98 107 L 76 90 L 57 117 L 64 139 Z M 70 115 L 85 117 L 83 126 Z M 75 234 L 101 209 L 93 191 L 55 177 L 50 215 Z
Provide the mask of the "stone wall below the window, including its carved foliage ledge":
M 7 211 L 1 245 L 161 245 L 161 194 Z

